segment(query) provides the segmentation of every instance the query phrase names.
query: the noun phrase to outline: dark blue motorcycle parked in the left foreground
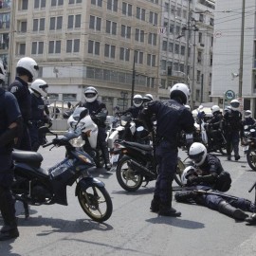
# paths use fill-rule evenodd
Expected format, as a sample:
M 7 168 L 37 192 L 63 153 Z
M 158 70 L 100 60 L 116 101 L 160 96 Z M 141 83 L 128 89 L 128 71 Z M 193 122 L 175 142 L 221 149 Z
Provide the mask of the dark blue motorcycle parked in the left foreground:
M 75 195 L 78 196 L 82 210 L 94 221 L 103 222 L 112 214 L 113 205 L 109 193 L 101 180 L 92 177 L 89 169 L 95 167 L 90 155 L 77 149 L 82 146 L 81 130 L 78 125 L 87 114 L 87 110 L 81 113 L 73 132 L 59 136 L 50 132 L 47 127 L 40 129 L 55 137 L 50 145 L 53 147 L 64 146 L 66 157 L 48 170 L 41 168 L 43 156 L 35 152 L 14 151 L 14 177 L 15 181 L 11 191 L 16 200 L 23 202 L 26 218 L 29 216 L 28 205 L 52 205 L 67 206 L 66 186 L 72 186 L 75 182 Z M 92 169 L 91 169 L 92 170 Z

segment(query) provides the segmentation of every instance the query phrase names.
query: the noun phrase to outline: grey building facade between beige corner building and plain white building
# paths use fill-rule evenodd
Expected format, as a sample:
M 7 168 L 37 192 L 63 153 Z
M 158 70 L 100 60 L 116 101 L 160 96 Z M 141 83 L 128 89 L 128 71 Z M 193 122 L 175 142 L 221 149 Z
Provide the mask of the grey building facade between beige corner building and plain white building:
M 187 82 L 192 107 L 210 101 L 214 2 L 164 0 L 160 43 L 159 98 L 175 82 Z

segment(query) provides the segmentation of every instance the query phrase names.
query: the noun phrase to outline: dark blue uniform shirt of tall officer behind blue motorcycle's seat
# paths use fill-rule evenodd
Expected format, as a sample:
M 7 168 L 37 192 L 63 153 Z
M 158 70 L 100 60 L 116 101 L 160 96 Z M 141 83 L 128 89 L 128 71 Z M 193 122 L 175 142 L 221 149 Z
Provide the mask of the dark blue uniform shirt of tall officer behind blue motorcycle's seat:
M 27 123 L 27 120 L 31 117 L 31 96 L 28 90 L 28 83 L 16 77 L 15 81 L 9 85 L 8 90 L 16 97 L 22 117 Z

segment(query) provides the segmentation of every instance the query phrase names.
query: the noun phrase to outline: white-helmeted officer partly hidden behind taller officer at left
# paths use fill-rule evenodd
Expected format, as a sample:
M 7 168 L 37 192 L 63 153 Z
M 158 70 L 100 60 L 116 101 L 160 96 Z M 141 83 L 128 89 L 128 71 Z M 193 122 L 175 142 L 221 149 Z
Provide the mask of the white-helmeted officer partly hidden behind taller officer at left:
M 45 114 L 46 104 L 43 97 L 47 96 L 48 84 L 42 79 L 37 79 L 31 83 L 31 124 L 28 127 L 31 139 L 32 151 L 37 152 L 41 145 L 46 143 L 45 134 L 39 132 L 39 128 L 45 123 L 49 123 L 49 119 Z

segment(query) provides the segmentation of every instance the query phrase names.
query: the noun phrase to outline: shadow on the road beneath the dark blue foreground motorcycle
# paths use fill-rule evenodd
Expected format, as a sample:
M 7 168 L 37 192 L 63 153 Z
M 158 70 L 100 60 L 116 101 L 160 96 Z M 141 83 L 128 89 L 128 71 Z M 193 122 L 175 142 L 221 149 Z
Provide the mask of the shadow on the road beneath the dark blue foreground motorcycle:
M 78 219 L 75 221 L 70 221 L 44 217 L 29 218 L 27 220 L 19 219 L 18 225 L 19 227 L 42 226 L 46 228 L 42 233 L 39 233 L 38 236 L 45 236 L 56 232 L 82 233 L 90 230 L 108 231 L 113 229 L 112 226 L 106 223 L 98 223 L 92 220 Z

